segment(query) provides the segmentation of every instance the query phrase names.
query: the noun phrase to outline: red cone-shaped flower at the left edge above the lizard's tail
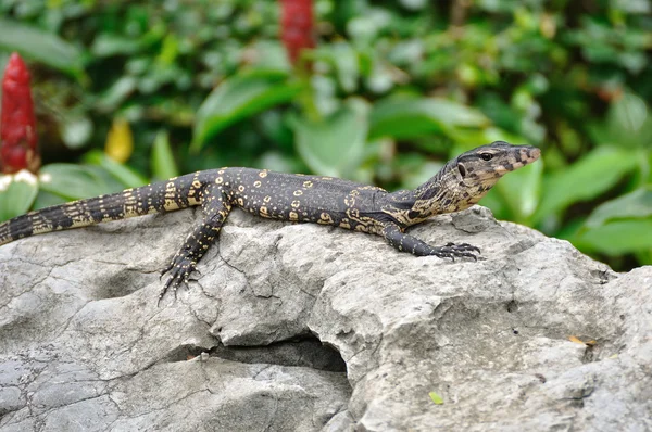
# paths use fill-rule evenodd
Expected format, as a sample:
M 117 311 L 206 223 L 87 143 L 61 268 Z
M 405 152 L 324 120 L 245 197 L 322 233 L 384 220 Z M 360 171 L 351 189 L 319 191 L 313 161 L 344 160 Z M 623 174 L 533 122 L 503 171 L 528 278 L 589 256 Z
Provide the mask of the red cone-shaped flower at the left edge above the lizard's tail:
M 24 168 L 36 174 L 40 167 L 29 72 L 15 52 L 11 54 L 2 78 L 0 166 L 4 174 Z

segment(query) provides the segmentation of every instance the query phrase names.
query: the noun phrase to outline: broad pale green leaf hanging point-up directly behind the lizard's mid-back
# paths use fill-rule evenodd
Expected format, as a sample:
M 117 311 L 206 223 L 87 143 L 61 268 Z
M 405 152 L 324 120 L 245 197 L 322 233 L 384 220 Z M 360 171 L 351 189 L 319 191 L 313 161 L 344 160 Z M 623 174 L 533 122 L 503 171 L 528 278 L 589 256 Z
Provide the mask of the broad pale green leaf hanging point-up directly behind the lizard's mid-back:
M 350 177 L 360 164 L 367 135 L 368 105 L 349 100 L 321 122 L 305 118 L 291 122 L 297 150 L 314 171 L 334 177 Z

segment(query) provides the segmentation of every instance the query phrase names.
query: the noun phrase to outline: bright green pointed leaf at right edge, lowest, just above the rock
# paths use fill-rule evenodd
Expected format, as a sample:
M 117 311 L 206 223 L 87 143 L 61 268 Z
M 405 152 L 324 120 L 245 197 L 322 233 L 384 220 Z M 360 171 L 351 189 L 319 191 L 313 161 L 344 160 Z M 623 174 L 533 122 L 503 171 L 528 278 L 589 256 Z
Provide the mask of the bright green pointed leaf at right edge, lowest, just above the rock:
M 582 250 L 611 256 L 650 251 L 652 250 L 652 218 L 607 221 L 598 228 L 580 232 L 570 241 Z

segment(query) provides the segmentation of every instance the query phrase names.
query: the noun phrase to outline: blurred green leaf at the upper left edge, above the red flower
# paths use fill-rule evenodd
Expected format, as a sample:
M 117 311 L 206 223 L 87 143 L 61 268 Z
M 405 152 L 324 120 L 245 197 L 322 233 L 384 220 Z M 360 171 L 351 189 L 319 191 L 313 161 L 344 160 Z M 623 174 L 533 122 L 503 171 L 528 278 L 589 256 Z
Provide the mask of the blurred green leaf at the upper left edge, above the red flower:
M 85 76 L 82 53 L 77 48 L 57 35 L 21 22 L 0 18 L 0 49 L 17 51 L 79 80 Z

